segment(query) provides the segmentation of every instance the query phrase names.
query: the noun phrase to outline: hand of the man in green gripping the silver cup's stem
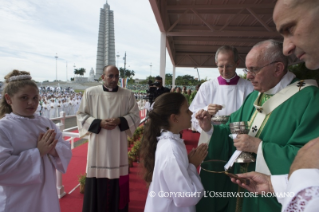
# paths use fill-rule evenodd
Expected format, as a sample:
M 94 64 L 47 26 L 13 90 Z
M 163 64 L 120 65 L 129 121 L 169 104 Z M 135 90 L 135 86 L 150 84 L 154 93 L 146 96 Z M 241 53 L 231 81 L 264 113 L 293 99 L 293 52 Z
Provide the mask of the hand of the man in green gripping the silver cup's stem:
M 254 152 L 257 154 L 261 140 L 247 134 L 239 134 L 234 139 L 234 146 L 237 150 L 244 152 Z

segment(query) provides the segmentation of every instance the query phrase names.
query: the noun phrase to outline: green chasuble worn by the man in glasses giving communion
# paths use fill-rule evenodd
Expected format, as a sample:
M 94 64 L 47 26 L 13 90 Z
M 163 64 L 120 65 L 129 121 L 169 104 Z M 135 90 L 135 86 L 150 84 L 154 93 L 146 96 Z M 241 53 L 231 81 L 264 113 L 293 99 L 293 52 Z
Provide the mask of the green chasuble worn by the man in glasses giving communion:
M 252 92 L 242 107 L 230 116 L 228 123 L 214 126 L 205 161 L 213 159 L 228 161 L 230 159 L 236 148 L 233 140 L 229 138 L 231 134 L 229 123 L 252 121 L 256 115 L 253 103 L 257 97 L 258 91 Z M 261 98 L 263 98 L 262 95 Z M 263 100 L 267 98 L 271 96 Z M 258 102 L 263 104 L 261 100 Z M 289 173 L 290 165 L 298 150 L 308 141 L 319 137 L 318 108 L 319 89 L 309 86 L 297 92 L 266 117 L 256 137 L 262 140 L 263 155 L 272 175 Z M 248 172 L 254 171 L 255 165 L 255 163 L 250 163 Z M 234 164 L 234 173 L 239 173 L 239 169 L 240 165 Z M 237 198 L 218 197 L 227 195 L 227 193 L 218 192 L 234 192 L 233 194 L 236 195 L 237 184 L 232 183 L 230 178 L 224 174 L 214 174 L 204 170 L 201 170 L 200 177 L 205 193 L 196 206 L 197 212 L 236 211 Z M 242 191 L 245 191 L 241 210 L 243 212 L 279 212 L 281 210 L 281 204 L 278 203 L 276 197 L 267 197 L 267 194 L 249 197 L 247 190 L 242 189 Z

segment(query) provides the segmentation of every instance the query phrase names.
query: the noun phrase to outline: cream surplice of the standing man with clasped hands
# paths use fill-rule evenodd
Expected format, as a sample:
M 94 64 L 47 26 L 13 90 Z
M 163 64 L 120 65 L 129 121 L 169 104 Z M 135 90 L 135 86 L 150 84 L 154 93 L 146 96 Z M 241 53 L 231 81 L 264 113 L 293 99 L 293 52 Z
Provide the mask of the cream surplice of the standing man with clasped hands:
M 140 122 L 139 109 L 133 93 L 118 88 L 105 92 L 101 85 L 88 88 L 77 112 L 80 135 L 88 132 L 95 119 L 124 117 L 129 129 L 101 129 L 89 136 L 87 177 L 117 179 L 128 174 L 127 136 L 132 136 Z

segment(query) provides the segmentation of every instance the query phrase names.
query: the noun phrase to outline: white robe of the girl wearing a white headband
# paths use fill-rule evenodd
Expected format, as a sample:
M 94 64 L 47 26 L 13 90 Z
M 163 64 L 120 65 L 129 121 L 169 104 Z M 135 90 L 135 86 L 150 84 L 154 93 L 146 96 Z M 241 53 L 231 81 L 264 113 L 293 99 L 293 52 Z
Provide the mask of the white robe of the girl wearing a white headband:
M 70 143 L 47 118 L 13 113 L 0 120 L 0 211 L 58 212 L 56 169 L 66 172 L 72 156 Z M 59 157 L 40 156 L 38 136 L 55 129 Z

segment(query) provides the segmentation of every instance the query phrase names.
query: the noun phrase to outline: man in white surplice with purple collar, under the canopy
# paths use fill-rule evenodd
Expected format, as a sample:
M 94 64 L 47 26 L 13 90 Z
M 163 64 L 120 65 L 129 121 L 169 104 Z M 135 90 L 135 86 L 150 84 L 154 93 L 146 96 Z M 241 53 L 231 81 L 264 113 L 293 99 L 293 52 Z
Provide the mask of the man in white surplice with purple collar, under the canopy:
M 239 56 L 235 47 L 220 47 L 215 62 L 220 76 L 204 82 L 189 107 L 193 112 L 192 125 L 199 132 L 202 129 L 195 118 L 199 110 L 207 110 L 211 116 L 229 116 L 241 107 L 248 94 L 254 90 L 249 81 L 236 74 Z

